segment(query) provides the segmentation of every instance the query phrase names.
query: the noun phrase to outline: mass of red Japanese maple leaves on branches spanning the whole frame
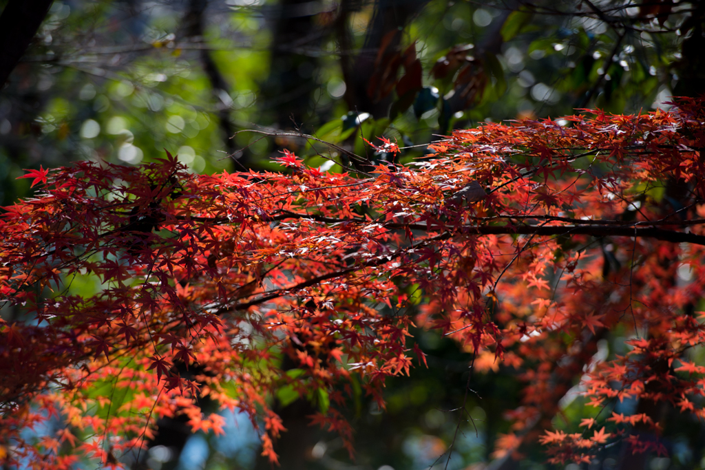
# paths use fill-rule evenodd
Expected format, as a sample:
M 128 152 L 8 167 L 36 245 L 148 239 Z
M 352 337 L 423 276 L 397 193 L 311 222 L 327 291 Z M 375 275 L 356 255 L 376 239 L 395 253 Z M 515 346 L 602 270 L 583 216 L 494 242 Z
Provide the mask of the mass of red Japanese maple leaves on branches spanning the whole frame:
M 32 172 L 41 192 L 0 220 L 14 315 L 0 323 L 4 462 L 117 465 L 161 416 L 220 433 L 199 397 L 249 413 L 276 462 L 281 390 L 315 398 L 314 422 L 352 450 L 338 411 L 350 375 L 382 404 L 384 379 L 424 360 L 413 324 L 458 340 L 480 371 L 520 371 L 523 406 L 497 455 L 550 430 L 578 383 L 599 407 L 638 397 L 701 416 L 705 370 L 687 354 L 705 340 L 692 314 L 705 285 L 704 121 L 702 100 L 682 100 L 668 113 L 488 124 L 371 178 L 288 152 L 293 174 L 192 175 L 171 155 Z M 597 361 L 615 328 L 632 350 Z M 22 432 L 59 414 L 55 435 Z M 646 450 L 631 418 L 597 421 L 611 432 L 543 434 L 553 462 L 583 462 L 611 438 Z

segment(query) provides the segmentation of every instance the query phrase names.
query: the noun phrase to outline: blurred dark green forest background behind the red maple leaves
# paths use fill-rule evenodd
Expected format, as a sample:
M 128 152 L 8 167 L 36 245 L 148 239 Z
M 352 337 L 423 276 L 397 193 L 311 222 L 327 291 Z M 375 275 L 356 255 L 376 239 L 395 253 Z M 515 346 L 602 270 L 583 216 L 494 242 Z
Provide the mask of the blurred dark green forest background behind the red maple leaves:
M 0 23 L 13 20 L 10 3 Z M 705 72 L 701 2 L 47 6 L 0 92 L 4 206 L 31 194 L 28 180 L 16 179 L 23 168 L 84 159 L 135 165 L 162 158 L 166 148 L 196 173 L 271 170 L 279 168 L 271 162 L 278 151 L 290 149 L 309 166 L 343 171 L 302 134 L 357 155 L 368 153 L 362 137 L 384 135 L 406 147 L 398 159 L 407 163 L 422 157 L 437 136 L 483 121 L 596 107 L 613 113 L 667 109 L 671 95 L 701 93 Z M 445 410 L 462 403 L 470 354 L 434 333 L 418 335 L 429 368 L 390 381 L 384 412 L 364 397 L 350 404 L 357 409 L 355 463 L 341 452 L 339 438 L 307 426 L 312 405 L 295 400 L 278 409 L 289 429 L 276 448 L 283 468 L 423 468 L 450 443 L 458 456 L 453 468 L 498 462 L 495 441 L 509 426 L 502 413 L 520 400 L 516 373 L 489 366 L 474 376 L 467 405 L 474 423 L 465 423 L 458 437 L 458 416 Z M 605 341 L 606 350 L 623 348 L 617 335 Z M 562 419 L 582 416 L 580 397 L 561 406 Z M 259 443 L 247 432 L 247 420 L 228 420 L 228 433 L 220 437 L 190 434 L 183 423 L 164 420 L 148 458 L 133 465 L 269 466 L 257 457 Z M 649 461 L 652 470 L 701 466 L 705 428 L 689 426 L 673 437 L 670 457 Z M 545 466 L 538 445 L 524 462 Z M 606 470 L 616 464 L 614 458 L 601 463 Z

